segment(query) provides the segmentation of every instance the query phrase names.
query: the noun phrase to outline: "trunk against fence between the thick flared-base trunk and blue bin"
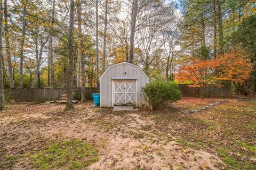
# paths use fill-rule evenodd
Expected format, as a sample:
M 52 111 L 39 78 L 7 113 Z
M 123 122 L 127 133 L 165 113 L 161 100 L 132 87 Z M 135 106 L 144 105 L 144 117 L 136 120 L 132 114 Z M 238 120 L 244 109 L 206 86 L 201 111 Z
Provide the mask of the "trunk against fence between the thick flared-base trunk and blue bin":
M 78 11 L 78 34 L 79 34 L 79 42 L 78 42 L 78 47 L 79 51 L 81 54 L 81 72 L 82 72 L 82 86 L 81 86 L 81 101 L 84 102 L 86 101 L 86 91 L 85 91 L 85 68 L 84 68 L 84 43 L 83 43 L 83 33 L 82 33 L 82 28 L 81 28 L 81 12 L 82 12 L 82 4 L 81 1 L 77 1 L 78 6 L 77 6 L 77 11 Z

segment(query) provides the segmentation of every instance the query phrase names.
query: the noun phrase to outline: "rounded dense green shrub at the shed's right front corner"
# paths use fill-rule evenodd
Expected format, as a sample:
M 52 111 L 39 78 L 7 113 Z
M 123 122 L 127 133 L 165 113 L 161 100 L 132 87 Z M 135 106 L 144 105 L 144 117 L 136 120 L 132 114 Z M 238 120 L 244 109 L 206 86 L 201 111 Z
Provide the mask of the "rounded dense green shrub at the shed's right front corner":
M 145 94 L 146 100 L 153 110 L 166 102 L 174 102 L 181 98 L 178 85 L 171 81 L 156 80 L 150 82 L 142 88 L 142 92 Z

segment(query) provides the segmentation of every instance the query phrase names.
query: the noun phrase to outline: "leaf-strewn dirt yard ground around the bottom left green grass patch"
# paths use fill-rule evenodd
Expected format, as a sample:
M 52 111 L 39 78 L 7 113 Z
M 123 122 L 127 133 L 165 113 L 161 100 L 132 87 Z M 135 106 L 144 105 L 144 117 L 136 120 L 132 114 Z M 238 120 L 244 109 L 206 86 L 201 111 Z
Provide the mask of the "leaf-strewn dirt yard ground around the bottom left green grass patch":
M 228 102 L 181 113 L 221 100 Z M 255 100 L 183 98 L 157 111 L 113 111 L 92 102 L 64 108 L 8 104 L 1 112 L 0 168 L 40 169 L 26 153 L 80 139 L 98 149 L 98 161 L 84 169 L 256 169 Z

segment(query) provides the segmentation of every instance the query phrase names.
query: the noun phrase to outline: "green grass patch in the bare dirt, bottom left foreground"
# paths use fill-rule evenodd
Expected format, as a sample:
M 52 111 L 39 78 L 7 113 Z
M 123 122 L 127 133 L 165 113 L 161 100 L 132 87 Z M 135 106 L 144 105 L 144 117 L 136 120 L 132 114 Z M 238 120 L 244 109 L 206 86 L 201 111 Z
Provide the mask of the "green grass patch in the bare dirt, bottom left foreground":
M 81 140 L 53 143 L 42 151 L 27 155 L 38 169 L 82 169 L 98 161 L 98 150 Z

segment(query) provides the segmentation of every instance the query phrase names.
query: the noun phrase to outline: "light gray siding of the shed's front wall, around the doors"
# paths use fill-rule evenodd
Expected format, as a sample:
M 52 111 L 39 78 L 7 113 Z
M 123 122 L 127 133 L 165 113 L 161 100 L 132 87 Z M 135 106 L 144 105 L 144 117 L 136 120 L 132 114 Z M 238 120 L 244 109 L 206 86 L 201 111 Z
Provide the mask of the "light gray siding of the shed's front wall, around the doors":
M 141 92 L 141 87 L 145 86 L 148 82 L 147 77 L 137 67 L 127 63 L 118 64 L 116 66 L 110 66 L 107 72 L 101 77 L 100 93 L 101 93 L 101 107 L 112 106 L 112 81 L 111 77 L 138 77 L 137 81 L 137 96 L 138 106 L 148 106 L 144 95 Z M 126 72 L 126 74 L 125 74 Z

